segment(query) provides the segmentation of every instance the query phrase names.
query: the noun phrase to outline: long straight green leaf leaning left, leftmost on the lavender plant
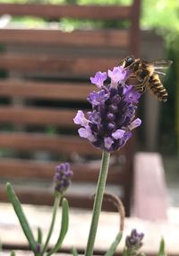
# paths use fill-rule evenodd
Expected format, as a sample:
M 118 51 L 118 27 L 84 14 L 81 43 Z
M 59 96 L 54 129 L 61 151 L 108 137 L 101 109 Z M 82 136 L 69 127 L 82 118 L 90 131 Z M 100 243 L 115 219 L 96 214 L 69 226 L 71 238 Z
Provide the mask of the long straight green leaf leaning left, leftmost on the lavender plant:
M 11 183 L 7 182 L 6 183 L 6 191 L 7 191 L 7 196 L 10 202 L 13 204 L 13 209 L 20 221 L 21 228 L 23 230 L 23 233 L 27 237 L 29 243 L 30 243 L 30 248 L 33 252 L 36 252 L 36 246 L 37 243 L 35 242 L 34 236 L 31 232 L 30 225 L 28 223 L 28 220 L 26 216 L 23 213 L 22 207 L 21 207 L 21 202 L 15 195 L 15 192 L 13 190 L 13 187 Z

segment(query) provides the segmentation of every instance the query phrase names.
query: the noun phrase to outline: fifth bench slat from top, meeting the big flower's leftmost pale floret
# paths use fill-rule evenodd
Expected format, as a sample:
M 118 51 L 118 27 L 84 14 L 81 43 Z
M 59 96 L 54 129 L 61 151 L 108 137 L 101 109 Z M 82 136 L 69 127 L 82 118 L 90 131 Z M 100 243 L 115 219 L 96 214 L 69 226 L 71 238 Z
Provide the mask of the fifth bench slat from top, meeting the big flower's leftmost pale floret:
M 0 122 L 18 125 L 55 125 L 74 128 L 77 110 L 0 106 Z

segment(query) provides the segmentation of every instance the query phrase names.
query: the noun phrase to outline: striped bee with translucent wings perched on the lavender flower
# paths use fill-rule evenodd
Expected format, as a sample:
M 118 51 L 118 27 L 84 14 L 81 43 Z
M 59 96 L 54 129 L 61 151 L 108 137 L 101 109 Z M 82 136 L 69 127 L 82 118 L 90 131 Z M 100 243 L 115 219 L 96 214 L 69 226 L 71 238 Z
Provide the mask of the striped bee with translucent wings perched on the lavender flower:
M 133 86 L 137 92 L 144 93 L 149 88 L 162 102 L 167 101 L 167 92 L 160 81 L 159 75 L 166 75 L 166 73 L 160 70 L 169 67 L 171 64 L 171 60 L 160 59 L 149 62 L 133 56 L 126 57 L 119 63 L 126 70 L 129 70 L 129 80 L 135 80 Z

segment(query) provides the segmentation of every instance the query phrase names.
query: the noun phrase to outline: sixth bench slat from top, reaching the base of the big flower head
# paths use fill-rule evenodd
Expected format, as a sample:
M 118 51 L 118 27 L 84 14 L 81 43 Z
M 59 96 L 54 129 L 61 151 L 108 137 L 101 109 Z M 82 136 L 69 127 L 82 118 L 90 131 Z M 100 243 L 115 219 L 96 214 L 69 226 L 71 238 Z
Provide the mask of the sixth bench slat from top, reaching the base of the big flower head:
M 86 139 L 78 136 L 46 136 L 38 133 L 0 133 L 0 147 L 19 150 L 42 150 L 55 153 L 101 154 Z

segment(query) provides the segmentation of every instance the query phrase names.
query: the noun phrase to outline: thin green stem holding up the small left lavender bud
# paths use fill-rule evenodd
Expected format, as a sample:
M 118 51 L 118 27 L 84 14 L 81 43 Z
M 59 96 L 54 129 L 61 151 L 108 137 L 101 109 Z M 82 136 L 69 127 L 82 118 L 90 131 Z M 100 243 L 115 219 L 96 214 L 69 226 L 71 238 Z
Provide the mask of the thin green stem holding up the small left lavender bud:
M 53 207 L 53 216 L 52 216 L 52 221 L 51 221 L 51 225 L 50 225 L 50 228 L 49 228 L 49 231 L 48 231 L 48 234 L 47 234 L 47 240 L 46 240 L 46 243 L 44 244 L 44 248 L 41 252 L 41 255 L 44 254 L 44 252 L 46 252 L 47 250 L 47 245 L 49 243 L 49 240 L 50 240 L 50 237 L 52 235 L 52 232 L 53 232 L 53 229 L 54 229 L 54 225 L 55 225 L 55 216 L 56 216 L 56 212 L 57 212 L 57 209 L 58 209 L 58 206 L 60 204 L 60 200 L 61 200 L 61 195 L 60 194 L 57 194 L 55 196 L 55 201 L 54 201 L 54 207 Z

